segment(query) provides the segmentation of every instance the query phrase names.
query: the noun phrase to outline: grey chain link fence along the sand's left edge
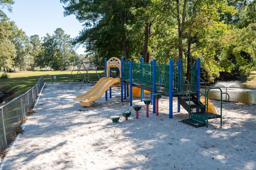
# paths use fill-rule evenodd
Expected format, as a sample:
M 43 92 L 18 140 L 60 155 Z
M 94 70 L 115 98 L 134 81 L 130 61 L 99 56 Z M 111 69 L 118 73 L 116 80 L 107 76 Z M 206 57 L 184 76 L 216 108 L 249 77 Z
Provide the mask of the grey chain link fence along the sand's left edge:
M 15 130 L 20 127 L 22 121 L 33 107 L 40 90 L 44 85 L 44 76 L 37 84 L 25 94 L 12 99 L 10 102 L 0 106 L 0 149 L 7 147 L 7 143 L 12 138 Z

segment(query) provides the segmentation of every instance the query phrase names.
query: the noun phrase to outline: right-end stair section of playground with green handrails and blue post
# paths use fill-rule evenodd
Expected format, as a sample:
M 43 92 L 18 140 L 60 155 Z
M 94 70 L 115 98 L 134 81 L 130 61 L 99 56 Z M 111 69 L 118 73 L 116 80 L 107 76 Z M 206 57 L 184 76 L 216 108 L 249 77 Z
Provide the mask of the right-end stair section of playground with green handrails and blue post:
M 191 53 L 186 53 L 190 54 Z M 185 63 L 186 63 L 186 55 L 185 55 Z M 198 64 L 199 62 L 199 64 Z M 192 63 L 192 55 L 191 61 Z M 185 71 L 183 72 L 185 73 Z M 197 65 L 190 65 L 190 82 L 188 82 L 185 78 L 185 74 L 178 75 L 178 82 L 180 85 L 178 87 L 178 91 L 180 95 L 178 95 L 178 102 L 184 109 L 189 113 L 189 119 L 182 120 L 183 123 L 194 127 L 208 127 L 208 119 L 218 119 L 220 118 L 220 127 L 222 126 L 222 90 L 218 87 L 209 88 L 206 91 L 206 82 L 200 77 L 200 59 L 197 60 Z M 205 90 L 204 92 L 200 91 L 200 82 L 204 82 Z M 184 90 L 188 87 L 187 90 Z M 212 89 L 220 90 L 220 115 L 216 113 L 208 112 L 208 92 Z M 228 94 L 226 94 L 228 95 Z M 204 97 L 205 104 L 200 102 L 200 97 Z M 229 95 L 228 95 L 229 100 Z M 228 101 L 226 101 L 228 102 Z

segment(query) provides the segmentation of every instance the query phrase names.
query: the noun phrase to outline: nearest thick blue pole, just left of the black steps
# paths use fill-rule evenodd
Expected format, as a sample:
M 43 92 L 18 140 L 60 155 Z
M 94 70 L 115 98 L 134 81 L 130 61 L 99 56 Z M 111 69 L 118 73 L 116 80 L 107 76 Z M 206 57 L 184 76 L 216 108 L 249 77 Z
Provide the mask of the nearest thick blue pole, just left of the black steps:
M 172 119 L 172 104 L 173 104 L 173 60 L 170 59 L 170 65 L 169 65 L 169 119 Z

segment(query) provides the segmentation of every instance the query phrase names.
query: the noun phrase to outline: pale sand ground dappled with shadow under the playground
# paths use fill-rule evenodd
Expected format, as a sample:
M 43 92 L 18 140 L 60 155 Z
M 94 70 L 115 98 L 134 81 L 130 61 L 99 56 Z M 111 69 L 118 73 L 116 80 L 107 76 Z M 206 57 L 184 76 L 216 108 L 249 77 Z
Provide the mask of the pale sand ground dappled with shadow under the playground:
M 188 113 L 177 113 L 174 98 L 173 119 L 169 119 L 167 97 L 159 100 L 159 116 L 146 117 L 142 105 L 139 119 L 129 105 L 120 102 L 120 89 L 112 98 L 103 95 L 91 107 L 75 101 L 92 88 L 85 84 L 46 84 L 28 117 L 24 133 L 0 164 L 2 170 L 254 170 L 256 169 L 256 106 L 223 104 L 223 122 L 209 121 L 208 128 L 183 124 Z M 220 111 L 220 102 L 211 101 Z M 131 111 L 125 121 L 122 111 Z M 118 123 L 110 116 L 118 115 Z

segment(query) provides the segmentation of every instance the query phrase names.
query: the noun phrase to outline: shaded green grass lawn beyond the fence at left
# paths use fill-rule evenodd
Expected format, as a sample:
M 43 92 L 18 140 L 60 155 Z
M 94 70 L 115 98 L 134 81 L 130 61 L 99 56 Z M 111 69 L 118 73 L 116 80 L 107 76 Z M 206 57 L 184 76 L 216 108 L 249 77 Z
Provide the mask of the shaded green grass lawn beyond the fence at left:
M 44 82 L 51 83 L 51 82 L 69 82 L 75 81 L 82 81 L 84 76 L 88 78 L 88 74 L 86 71 L 80 71 L 76 76 L 78 71 L 20 71 L 16 73 L 8 73 L 10 76 L 9 79 L 0 79 L 0 92 L 4 93 L 4 99 L 0 100 L 0 105 L 4 104 L 5 101 L 10 101 L 19 95 L 26 93 L 29 89 L 31 89 L 42 75 L 44 75 Z M 88 71 L 90 78 L 92 81 L 98 81 L 99 77 L 104 77 L 104 71 Z M 71 75 L 72 73 L 72 75 Z M 71 76 L 70 76 L 71 75 Z M 51 79 L 52 77 L 52 79 Z M 76 79 L 75 79 L 76 77 Z M 54 79 L 56 78 L 56 79 Z

